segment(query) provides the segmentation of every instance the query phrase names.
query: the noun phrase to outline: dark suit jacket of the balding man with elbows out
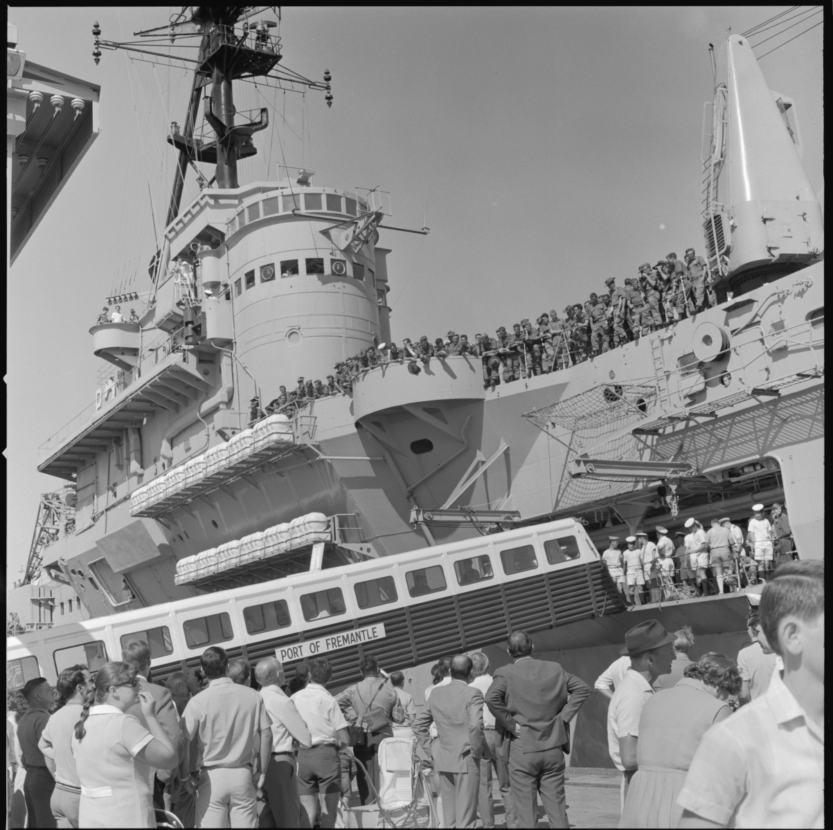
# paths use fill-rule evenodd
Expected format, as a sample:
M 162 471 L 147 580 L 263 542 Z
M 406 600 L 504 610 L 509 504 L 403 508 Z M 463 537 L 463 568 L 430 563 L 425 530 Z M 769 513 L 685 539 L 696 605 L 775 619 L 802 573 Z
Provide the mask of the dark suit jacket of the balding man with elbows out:
M 495 716 L 499 737 L 518 739 L 515 726 L 520 724 L 525 753 L 555 747 L 569 752 L 567 724 L 590 693 L 590 686 L 560 664 L 522 657 L 496 670 L 486 706 Z

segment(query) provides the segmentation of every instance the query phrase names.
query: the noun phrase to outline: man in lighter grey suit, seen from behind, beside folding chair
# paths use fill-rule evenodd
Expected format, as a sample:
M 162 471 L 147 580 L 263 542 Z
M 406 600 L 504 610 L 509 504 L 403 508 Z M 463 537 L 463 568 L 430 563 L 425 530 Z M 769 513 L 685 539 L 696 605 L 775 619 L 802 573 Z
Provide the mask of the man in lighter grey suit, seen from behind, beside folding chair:
M 446 828 L 473 828 L 477 820 L 483 736 L 483 694 L 468 685 L 471 657 L 451 660 L 451 683 L 431 690 L 425 711 L 416 718 L 416 739 L 440 773 L 442 818 Z M 428 728 L 436 723 L 431 744 Z

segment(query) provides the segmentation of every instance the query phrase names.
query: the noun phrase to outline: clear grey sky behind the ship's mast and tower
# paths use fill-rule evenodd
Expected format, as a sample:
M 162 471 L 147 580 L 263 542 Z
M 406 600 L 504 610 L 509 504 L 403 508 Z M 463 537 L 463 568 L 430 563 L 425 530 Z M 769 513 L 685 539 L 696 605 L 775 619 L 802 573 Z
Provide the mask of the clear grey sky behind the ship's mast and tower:
M 670 250 L 701 252 L 708 44 L 787 8 L 287 7 L 282 66 L 317 80 L 329 69 L 333 105 L 321 91 L 236 92 L 238 111 L 276 107 L 277 130 L 255 135 L 258 156 L 242 163 L 241 181 L 276 180 L 279 164 L 312 167 L 319 186 L 388 191 L 386 224 L 431 229 L 381 232 L 397 342 L 508 328 Z M 190 89 L 182 68 L 125 52 L 104 51 L 96 67 L 92 23 L 123 41 L 178 10 L 8 11 L 28 60 L 102 86 L 101 135 L 7 280 L 10 581 L 27 560 L 39 494 L 62 487 L 37 472 L 38 447 L 95 396 L 102 362 L 89 328 L 107 294 L 150 288 L 176 161 L 164 136 L 185 120 Z M 823 31 L 761 58 L 770 86 L 796 100 L 816 190 Z

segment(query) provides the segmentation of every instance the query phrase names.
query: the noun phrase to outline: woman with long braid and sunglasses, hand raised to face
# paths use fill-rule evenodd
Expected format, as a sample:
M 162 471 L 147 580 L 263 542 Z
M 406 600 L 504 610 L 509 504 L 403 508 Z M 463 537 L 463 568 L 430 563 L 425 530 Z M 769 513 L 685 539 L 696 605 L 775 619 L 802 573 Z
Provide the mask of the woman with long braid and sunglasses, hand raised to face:
M 155 828 L 151 768 L 170 769 L 177 750 L 156 715 L 156 701 L 137 692 L 127 663 L 106 663 L 84 693 L 81 719 L 72 736 L 82 828 Z M 145 729 L 132 714 L 139 701 Z M 150 731 L 148 731 L 150 730 Z

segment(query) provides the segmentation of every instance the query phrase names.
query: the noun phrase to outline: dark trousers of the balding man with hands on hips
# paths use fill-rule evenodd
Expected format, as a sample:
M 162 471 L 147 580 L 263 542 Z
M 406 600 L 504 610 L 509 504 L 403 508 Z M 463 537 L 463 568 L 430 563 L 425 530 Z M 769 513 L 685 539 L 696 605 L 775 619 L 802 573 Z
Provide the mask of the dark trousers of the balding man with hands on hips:
M 522 828 L 536 827 L 538 793 L 546 810 L 551 828 L 568 828 L 567 807 L 564 796 L 564 770 L 566 763 L 561 748 L 542 752 L 525 753 L 521 742 L 509 745 L 509 778 L 512 785 L 512 803 Z

